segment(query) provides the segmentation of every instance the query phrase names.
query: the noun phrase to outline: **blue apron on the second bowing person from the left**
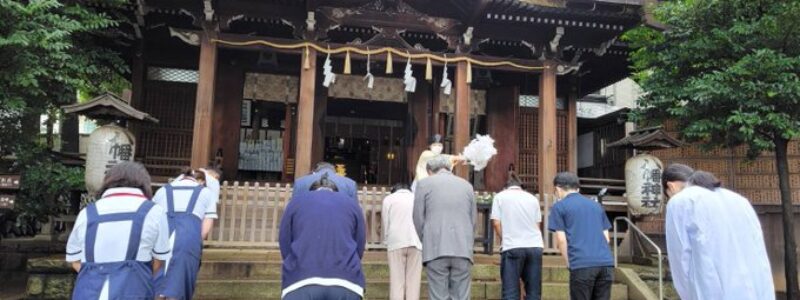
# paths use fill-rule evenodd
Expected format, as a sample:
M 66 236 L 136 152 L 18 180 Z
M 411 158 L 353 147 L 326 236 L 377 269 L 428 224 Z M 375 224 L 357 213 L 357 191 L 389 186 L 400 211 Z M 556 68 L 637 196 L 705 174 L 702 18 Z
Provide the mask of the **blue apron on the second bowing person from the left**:
M 178 187 L 165 185 L 167 192 L 167 219 L 169 233 L 175 235 L 172 258 L 156 280 L 157 295 L 174 299 L 192 299 L 197 272 L 200 271 L 200 257 L 203 253 L 201 236 L 203 221 L 192 212 L 200 198 L 203 186 Z M 175 211 L 174 190 L 192 190 L 192 197 L 185 212 Z

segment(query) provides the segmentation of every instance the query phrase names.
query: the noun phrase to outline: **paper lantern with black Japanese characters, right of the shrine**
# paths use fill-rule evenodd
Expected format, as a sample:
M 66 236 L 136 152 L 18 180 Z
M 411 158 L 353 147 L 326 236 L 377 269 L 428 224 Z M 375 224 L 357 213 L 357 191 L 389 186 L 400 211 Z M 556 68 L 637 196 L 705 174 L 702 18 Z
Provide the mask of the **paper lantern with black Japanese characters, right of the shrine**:
M 650 154 L 639 154 L 625 163 L 625 190 L 628 209 L 633 215 L 661 212 L 664 191 L 661 172 L 664 164 Z

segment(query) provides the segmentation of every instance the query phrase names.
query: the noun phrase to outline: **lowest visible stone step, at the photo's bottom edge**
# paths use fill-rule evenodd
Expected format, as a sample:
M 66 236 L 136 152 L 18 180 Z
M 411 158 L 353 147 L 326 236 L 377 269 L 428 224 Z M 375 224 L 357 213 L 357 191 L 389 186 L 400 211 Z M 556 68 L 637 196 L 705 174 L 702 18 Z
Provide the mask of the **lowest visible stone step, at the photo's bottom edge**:
M 422 283 L 421 296 L 427 299 L 427 283 Z M 473 282 L 472 299 L 501 299 L 500 282 Z M 195 299 L 280 299 L 281 283 L 279 280 L 200 280 L 195 290 Z M 562 300 L 569 297 L 568 283 L 542 284 L 542 299 Z M 367 283 L 364 299 L 388 299 L 389 282 L 375 281 Z M 623 284 L 614 284 L 611 288 L 611 299 L 628 299 L 628 288 Z

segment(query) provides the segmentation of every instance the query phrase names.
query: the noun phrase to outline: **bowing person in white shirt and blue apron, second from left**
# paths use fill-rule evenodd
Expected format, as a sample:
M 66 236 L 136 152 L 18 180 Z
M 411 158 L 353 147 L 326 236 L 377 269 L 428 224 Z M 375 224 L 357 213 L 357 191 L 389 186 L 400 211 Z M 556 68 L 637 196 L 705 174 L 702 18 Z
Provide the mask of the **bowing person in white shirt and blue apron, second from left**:
M 156 295 L 166 299 L 192 299 L 203 240 L 217 218 L 216 199 L 204 186 L 205 173 L 187 169 L 156 192 L 153 201 L 167 211 L 172 258 L 156 283 Z

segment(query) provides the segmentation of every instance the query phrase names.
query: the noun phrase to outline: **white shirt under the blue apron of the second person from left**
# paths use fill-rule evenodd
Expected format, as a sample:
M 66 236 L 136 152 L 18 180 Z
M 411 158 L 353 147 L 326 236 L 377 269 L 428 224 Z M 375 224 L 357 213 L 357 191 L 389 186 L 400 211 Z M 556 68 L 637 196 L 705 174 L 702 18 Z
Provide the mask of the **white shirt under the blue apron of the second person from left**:
M 196 180 L 192 178 L 178 178 L 175 179 L 172 183 L 170 183 L 174 187 L 193 187 L 198 186 Z M 192 190 L 172 190 L 173 193 L 173 201 L 175 202 L 175 211 L 176 212 L 185 212 L 186 208 L 189 206 L 189 200 L 192 197 Z M 156 195 L 153 196 L 153 202 L 160 205 L 165 211 L 168 209 L 167 206 L 167 189 L 160 188 Z M 213 192 L 209 188 L 203 188 L 200 191 L 200 196 L 197 198 L 197 203 L 195 203 L 194 211 L 192 211 L 194 215 L 202 219 L 216 219 L 217 218 L 217 200 L 214 199 Z

